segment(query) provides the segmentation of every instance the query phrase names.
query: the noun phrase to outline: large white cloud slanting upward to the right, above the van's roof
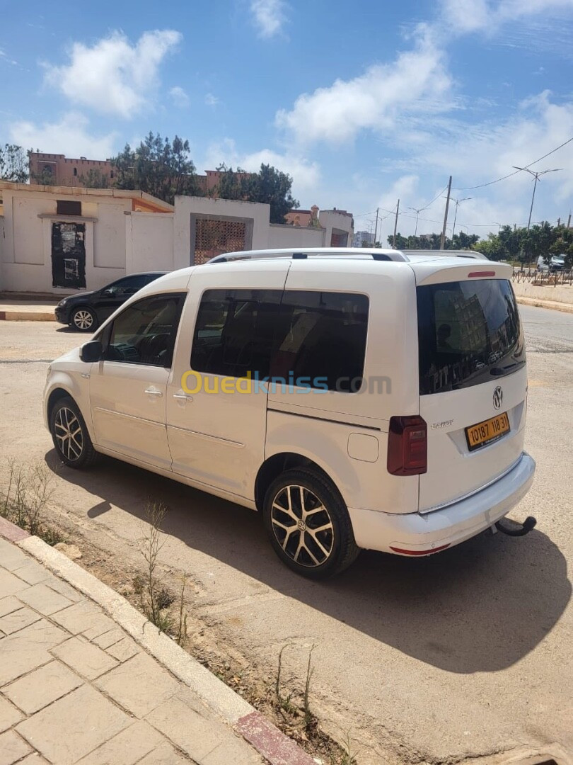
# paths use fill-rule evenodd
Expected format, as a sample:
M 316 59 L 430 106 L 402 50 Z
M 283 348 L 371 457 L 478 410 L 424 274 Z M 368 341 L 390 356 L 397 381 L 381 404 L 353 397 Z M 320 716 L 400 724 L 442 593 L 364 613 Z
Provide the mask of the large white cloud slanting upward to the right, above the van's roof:
M 336 80 L 299 96 L 290 112 L 277 112 L 277 125 L 301 143 L 336 144 L 362 129 L 392 132 L 403 116 L 451 108 L 452 78 L 443 48 L 424 24 L 416 29 L 414 41 L 413 50 L 400 53 L 393 63 L 375 64 L 353 80 Z

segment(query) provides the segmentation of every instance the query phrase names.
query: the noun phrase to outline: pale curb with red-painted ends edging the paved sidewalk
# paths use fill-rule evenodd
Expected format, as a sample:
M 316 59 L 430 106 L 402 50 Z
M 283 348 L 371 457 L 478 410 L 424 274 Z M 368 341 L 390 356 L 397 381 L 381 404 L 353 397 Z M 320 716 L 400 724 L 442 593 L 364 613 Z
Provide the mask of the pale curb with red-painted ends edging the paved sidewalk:
M 71 561 L 63 552 L 53 549 L 37 536 L 31 536 L 3 518 L 0 518 L 0 537 L 14 542 L 53 574 L 98 604 L 136 643 L 191 688 L 271 765 L 316 765 L 319 761 L 306 754 L 276 725 L 264 718 L 261 712 L 193 659 L 174 640 L 157 630 L 125 597 Z

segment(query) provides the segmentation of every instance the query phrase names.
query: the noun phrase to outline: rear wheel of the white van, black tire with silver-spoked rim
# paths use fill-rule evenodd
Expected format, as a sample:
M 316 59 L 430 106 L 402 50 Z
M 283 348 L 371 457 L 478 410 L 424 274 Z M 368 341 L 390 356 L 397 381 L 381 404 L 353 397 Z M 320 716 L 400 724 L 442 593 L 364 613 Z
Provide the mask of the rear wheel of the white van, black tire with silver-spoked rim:
M 281 561 L 309 579 L 338 574 L 360 552 L 342 496 L 312 470 L 286 470 L 275 479 L 264 497 L 263 519 Z

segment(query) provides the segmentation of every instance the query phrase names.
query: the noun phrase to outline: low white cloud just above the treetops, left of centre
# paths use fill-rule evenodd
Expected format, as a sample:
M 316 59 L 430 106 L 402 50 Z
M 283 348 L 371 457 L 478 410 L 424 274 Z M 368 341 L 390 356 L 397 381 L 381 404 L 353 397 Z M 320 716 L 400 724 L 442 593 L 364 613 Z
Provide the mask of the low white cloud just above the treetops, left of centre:
M 249 172 L 258 172 L 261 164 L 271 164 L 277 170 L 288 173 L 293 177 L 293 194 L 305 194 L 314 190 L 320 178 L 320 168 L 315 161 L 308 161 L 299 155 L 291 155 L 288 152 L 280 154 L 269 148 L 260 151 L 245 153 L 238 151 L 232 138 L 225 138 L 222 142 L 212 144 L 206 153 L 203 167 L 212 169 L 221 162 L 225 162 L 232 168 L 242 168 Z

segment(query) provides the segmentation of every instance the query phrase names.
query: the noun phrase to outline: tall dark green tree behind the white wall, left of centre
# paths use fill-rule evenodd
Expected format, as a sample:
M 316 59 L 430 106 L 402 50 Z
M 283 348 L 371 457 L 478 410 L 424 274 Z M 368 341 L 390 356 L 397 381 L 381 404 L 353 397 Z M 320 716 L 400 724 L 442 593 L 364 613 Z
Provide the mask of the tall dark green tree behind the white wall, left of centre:
M 179 136 L 161 138 L 151 131 L 138 148 L 129 144 L 112 158 L 115 185 L 138 189 L 173 204 L 177 194 L 198 194 L 195 165 L 189 157 L 189 141 Z

